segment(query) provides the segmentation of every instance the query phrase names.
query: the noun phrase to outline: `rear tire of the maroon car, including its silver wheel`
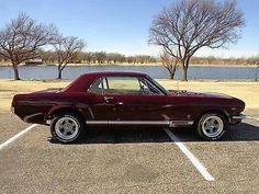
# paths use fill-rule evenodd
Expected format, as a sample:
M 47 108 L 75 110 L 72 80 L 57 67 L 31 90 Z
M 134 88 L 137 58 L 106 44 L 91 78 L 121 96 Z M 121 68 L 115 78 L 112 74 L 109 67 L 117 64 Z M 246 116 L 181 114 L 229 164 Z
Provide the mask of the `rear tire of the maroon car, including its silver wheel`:
M 53 138 L 61 144 L 74 144 L 83 136 L 86 124 L 75 113 L 60 113 L 50 123 Z

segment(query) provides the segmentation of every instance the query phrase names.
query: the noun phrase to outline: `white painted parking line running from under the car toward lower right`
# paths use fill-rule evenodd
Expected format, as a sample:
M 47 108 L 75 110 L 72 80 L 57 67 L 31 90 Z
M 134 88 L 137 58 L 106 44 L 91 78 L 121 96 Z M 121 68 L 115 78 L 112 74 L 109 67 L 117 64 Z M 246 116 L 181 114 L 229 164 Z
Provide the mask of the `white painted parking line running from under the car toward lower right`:
M 198 158 L 187 148 L 187 146 L 180 141 L 180 139 L 172 134 L 169 128 L 164 129 L 172 141 L 179 147 L 179 149 L 187 156 L 187 158 L 192 162 L 196 170 L 203 175 L 206 181 L 215 181 L 215 179 L 209 173 L 206 168 L 199 161 Z

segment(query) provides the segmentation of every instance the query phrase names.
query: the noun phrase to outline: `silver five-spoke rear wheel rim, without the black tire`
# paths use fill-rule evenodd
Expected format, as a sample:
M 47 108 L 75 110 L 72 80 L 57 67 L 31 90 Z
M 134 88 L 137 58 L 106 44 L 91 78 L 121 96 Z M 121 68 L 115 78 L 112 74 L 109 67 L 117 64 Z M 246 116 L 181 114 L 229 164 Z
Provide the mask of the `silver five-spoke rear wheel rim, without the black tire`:
M 55 124 L 56 135 L 65 140 L 74 139 L 79 132 L 79 125 L 72 117 L 60 117 Z

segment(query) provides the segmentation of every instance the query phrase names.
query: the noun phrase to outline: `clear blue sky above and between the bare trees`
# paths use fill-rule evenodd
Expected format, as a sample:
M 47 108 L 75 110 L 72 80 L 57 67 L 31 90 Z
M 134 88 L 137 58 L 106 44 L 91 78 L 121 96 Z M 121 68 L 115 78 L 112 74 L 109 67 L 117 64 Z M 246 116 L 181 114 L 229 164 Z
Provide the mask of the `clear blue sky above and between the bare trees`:
M 2 0 L 0 26 L 20 12 L 54 23 L 65 35 L 85 38 L 87 50 L 117 52 L 126 55 L 158 55 L 147 44 L 153 16 L 173 0 Z M 249 57 L 259 54 L 259 1 L 237 0 L 245 13 L 246 27 L 238 44 L 228 49 L 202 49 L 198 56 Z

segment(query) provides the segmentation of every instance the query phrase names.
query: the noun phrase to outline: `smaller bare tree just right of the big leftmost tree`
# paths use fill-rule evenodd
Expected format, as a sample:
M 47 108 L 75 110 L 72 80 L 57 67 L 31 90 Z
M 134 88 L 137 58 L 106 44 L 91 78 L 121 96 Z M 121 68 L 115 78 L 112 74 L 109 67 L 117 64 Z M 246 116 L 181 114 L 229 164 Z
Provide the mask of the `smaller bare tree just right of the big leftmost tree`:
M 86 47 L 86 43 L 83 39 L 79 39 L 78 37 L 68 36 L 56 39 L 55 44 L 53 44 L 55 48 L 55 54 L 57 56 L 58 64 L 58 79 L 61 79 L 63 70 L 66 66 L 75 60 L 79 53 Z

